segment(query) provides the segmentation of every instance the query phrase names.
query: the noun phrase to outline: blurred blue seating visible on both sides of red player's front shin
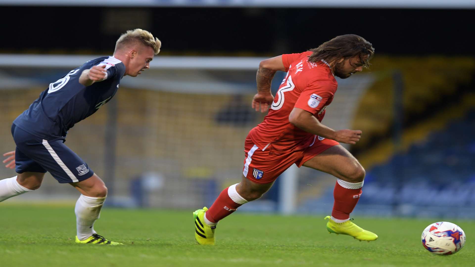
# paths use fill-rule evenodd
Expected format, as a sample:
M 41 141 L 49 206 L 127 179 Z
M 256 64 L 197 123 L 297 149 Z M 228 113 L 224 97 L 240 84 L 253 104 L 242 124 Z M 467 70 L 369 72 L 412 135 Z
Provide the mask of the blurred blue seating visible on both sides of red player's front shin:
M 475 102 L 473 102 L 475 104 Z M 475 106 L 475 105 L 473 105 Z M 367 171 L 354 213 L 371 216 L 438 218 L 475 217 L 475 109 L 441 131 L 396 153 Z M 333 203 L 333 189 L 306 200 L 303 212 L 323 213 Z

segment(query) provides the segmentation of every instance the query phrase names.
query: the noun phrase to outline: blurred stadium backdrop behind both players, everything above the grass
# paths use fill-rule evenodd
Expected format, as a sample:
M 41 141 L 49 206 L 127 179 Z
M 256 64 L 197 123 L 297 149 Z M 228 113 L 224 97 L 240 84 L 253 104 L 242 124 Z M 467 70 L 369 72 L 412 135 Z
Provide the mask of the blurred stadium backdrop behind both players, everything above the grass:
M 151 70 L 124 77 L 115 97 L 69 131 L 66 144 L 109 188 L 109 205 L 193 209 L 240 181 L 260 60 L 358 34 L 371 68 L 339 79 L 323 120 L 363 131 L 346 146 L 367 171 L 354 213 L 475 217 L 475 3 L 427 1 L 0 0 L 0 152 L 11 122 L 47 85 L 112 55 L 142 28 L 162 41 Z M 275 93 L 284 73 L 277 73 Z M 15 175 L 0 169 L 0 179 Z M 328 213 L 334 177 L 291 168 L 241 211 Z M 49 174 L 9 201 L 69 201 Z

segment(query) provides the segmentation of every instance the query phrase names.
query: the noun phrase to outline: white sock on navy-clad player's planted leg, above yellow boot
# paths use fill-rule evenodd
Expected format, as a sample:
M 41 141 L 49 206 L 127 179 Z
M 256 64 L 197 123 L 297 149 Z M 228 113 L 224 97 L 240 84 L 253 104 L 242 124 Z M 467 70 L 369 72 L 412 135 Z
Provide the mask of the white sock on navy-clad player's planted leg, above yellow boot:
M 77 238 L 85 240 L 95 234 L 94 222 L 99 219 L 102 205 L 104 205 L 104 198 L 93 198 L 81 195 L 76 202 L 76 229 Z

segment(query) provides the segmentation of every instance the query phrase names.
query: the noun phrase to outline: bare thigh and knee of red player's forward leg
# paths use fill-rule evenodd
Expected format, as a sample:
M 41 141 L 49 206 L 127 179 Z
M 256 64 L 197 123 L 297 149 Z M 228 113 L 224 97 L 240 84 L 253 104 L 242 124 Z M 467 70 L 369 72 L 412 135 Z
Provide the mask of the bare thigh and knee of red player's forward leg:
M 315 154 L 302 165 L 332 174 L 344 181 L 360 182 L 364 179 L 364 169 L 360 162 L 340 144 Z

